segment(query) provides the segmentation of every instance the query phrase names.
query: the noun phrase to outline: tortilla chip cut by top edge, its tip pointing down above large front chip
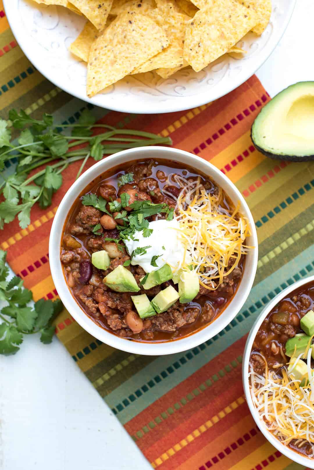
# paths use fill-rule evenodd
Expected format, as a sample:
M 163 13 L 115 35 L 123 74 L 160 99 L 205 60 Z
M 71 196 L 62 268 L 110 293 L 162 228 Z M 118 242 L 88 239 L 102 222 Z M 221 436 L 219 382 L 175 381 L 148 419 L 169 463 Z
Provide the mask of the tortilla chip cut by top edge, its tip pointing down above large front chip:
M 97 30 L 102 31 L 105 28 L 113 0 L 71 0 L 71 3 L 86 16 Z

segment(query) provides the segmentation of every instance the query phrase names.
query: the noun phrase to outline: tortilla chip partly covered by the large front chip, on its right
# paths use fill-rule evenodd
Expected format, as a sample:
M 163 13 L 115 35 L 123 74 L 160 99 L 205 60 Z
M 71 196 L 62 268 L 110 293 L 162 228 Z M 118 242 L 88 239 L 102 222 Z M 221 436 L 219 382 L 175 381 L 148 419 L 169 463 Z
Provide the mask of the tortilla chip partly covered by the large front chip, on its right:
M 165 31 L 170 45 L 167 49 L 161 51 L 140 67 L 137 67 L 132 72 L 132 75 L 160 68 L 177 68 L 183 64 L 185 26 L 189 16 L 177 13 L 172 3 L 155 8 L 153 11 L 148 12 L 147 16 L 152 18 Z

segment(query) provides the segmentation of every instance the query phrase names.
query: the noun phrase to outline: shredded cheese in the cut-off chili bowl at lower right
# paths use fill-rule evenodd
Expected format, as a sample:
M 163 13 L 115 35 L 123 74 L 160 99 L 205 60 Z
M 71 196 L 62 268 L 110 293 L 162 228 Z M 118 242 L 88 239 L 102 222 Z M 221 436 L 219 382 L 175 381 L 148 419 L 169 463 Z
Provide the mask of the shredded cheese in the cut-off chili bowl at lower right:
M 258 354 L 266 362 L 264 356 Z M 298 356 L 294 366 L 301 356 Z M 282 376 L 267 368 L 261 376 L 250 364 L 249 380 L 252 401 L 269 431 L 285 445 L 292 439 L 295 439 L 294 445 L 297 447 L 310 443 L 312 453 L 308 457 L 314 458 L 314 377 L 311 370 L 311 350 L 306 356 L 307 374 L 302 377 L 302 380 L 305 379 L 304 386 L 300 386 L 302 380 L 289 376 L 293 368 L 289 369 L 288 374 L 285 367 L 282 368 Z

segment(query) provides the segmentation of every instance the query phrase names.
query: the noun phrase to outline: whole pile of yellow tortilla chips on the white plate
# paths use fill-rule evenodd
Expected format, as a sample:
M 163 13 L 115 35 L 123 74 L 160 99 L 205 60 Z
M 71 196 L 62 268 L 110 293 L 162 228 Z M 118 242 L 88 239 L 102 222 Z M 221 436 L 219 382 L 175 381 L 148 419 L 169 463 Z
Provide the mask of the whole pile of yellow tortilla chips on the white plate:
M 70 51 L 87 63 L 87 94 L 121 78 L 156 71 L 168 78 L 191 66 L 199 72 L 236 47 L 249 31 L 261 35 L 271 0 L 35 0 L 84 15 Z

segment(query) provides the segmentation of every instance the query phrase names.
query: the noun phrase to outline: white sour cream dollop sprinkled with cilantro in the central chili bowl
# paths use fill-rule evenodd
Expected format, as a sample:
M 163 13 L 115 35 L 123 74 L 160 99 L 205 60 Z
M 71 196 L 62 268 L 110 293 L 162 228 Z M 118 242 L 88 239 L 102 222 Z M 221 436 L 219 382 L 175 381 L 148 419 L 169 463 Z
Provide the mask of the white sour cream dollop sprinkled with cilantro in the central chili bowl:
M 146 253 L 134 255 L 131 265 L 139 265 L 144 269 L 145 273 L 150 273 L 168 263 L 172 270 L 175 271 L 182 262 L 185 251 L 176 230 L 180 228 L 179 222 L 175 219 L 155 220 L 149 223 L 149 228 L 153 230 L 149 237 L 144 237 L 143 231 L 140 231 L 135 232 L 133 235 L 133 238 L 138 241 L 131 239 L 124 240 L 129 255 L 137 248 L 151 246 L 151 248 L 146 248 Z M 151 265 L 153 256 L 159 256 L 155 260 L 157 266 Z

